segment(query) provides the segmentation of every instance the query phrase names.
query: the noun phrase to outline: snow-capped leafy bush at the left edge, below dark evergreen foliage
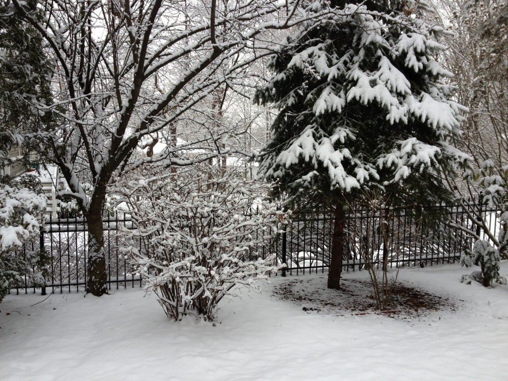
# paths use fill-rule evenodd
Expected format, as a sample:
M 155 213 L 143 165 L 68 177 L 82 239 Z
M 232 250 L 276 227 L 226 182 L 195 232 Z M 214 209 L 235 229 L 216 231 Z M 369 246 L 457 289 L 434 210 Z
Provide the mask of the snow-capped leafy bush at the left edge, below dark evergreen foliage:
M 42 280 L 42 252 L 20 250 L 24 241 L 39 235 L 46 197 L 32 178 L 0 178 L 0 301 L 22 275 Z

